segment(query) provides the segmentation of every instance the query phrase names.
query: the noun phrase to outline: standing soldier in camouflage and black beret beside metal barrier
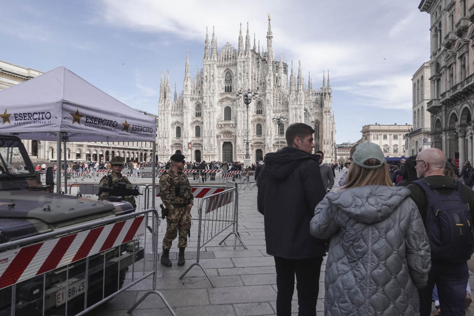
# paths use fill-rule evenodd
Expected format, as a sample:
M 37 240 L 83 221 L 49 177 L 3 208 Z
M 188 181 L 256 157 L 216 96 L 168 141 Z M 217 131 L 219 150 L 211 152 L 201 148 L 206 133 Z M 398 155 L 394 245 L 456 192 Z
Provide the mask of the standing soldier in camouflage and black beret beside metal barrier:
M 178 237 L 178 266 L 185 264 L 184 249 L 188 245 L 188 233 L 191 229 L 191 207 L 194 204 L 193 191 L 188 177 L 184 174 L 185 161 L 181 154 L 170 158 L 171 168 L 159 178 L 159 195 L 169 213 L 166 218 L 166 234 L 163 238 L 161 265 L 171 267 L 169 248 Z

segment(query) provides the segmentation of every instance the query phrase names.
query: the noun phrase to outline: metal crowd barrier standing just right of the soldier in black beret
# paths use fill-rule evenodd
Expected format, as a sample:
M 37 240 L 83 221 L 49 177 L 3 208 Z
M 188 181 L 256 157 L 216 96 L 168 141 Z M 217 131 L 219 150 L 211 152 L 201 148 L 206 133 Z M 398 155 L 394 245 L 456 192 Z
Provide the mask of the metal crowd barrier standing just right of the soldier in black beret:
M 179 279 L 183 279 L 194 266 L 198 266 L 212 287 L 216 287 L 211 277 L 199 262 L 200 249 L 230 227 L 232 227 L 232 232 L 222 239 L 219 244 L 222 244 L 227 238 L 234 235 L 234 249 L 237 247 L 237 239 L 242 246 L 247 249 L 247 246 L 242 242 L 240 234 L 238 233 L 237 189 L 228 188 L 222 192 L 202 197 L 199 201 L 197 214 L 198 218 L 193 218 L 193 220 L 198 221 L 196 262 L 189 266 Z

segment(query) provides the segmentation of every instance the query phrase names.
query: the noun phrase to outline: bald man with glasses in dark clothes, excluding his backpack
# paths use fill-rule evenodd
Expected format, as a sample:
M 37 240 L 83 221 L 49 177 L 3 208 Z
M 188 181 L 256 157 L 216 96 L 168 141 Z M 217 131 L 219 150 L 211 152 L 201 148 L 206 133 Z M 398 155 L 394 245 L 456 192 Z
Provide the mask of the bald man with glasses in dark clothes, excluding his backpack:
M 446 156 L 442 151 L 428 148 L 418 154 L 415 160 L 416 175 L 428 183 L 434 191 L 449 196 L 457 188 L 458 180 L 444 175 Z M 416 183 L 407 186 L 411 198 L 415 201 L 423 220 L 428 208 L 428 198 L 425 191 Z M 463 200 L 471 210 L 471 223 L 474 223 L 474 192 L 471 188 L 462 187 Z M 441 221 L 440 221 L 441 223 Z M 425 226 L 426 226 L 425 222 Z M 420 315 L 431 314 L 433 287 L 438 289 L 440 308 L 443 315 L 465 315 L 465 304 L 468 300 L 466 286 L 469 280 L 467 261 L 463 263 L 443 262 L 433 260 L 428 275 L 428 284 L 419 290 Z M 470 299 L 470 296 L 469 296 Z

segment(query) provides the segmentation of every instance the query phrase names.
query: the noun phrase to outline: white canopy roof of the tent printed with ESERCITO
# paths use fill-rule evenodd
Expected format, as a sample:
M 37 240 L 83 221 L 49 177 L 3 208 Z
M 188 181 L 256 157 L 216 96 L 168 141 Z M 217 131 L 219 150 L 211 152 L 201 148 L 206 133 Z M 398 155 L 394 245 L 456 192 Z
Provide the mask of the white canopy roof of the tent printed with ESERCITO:
M 0 134 L 68 142 L 151 141 L 156 122 L 65 67 L 0 91 Z

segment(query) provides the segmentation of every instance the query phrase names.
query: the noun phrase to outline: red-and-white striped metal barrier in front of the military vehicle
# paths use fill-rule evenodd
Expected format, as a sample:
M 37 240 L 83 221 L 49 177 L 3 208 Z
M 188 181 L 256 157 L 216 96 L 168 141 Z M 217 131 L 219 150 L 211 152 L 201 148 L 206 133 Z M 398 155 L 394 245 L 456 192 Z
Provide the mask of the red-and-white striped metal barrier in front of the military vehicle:
M 144 218 L 152 214 L 148 233 Z M 157 294 L 158 255 L 146 271 L 147 241 L 158 240 L 158 212 L 147 209 L 0 244 L 0 310 L 2 315 L 85 315 L 119 293 L 153 278 Z M 143 261 L 143 264 L 140 263 Z M 131 269 L 131 274 L 127 271 Z M 127 278 L 129 276 L 129 278 Z

